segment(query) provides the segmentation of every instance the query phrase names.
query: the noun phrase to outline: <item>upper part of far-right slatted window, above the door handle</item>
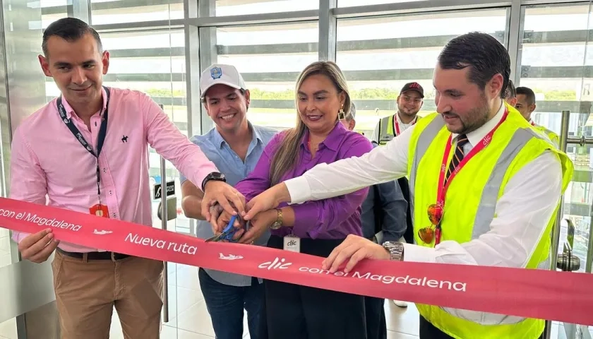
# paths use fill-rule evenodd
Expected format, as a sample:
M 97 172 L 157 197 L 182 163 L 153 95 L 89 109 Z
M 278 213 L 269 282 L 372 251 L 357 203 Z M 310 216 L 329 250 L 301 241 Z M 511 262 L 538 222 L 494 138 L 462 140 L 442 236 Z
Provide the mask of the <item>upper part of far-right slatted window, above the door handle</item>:
M 590 17 L 588 5 L 525 8 L 520 85 L 536 93 L 535 122 L 557 133 L 559 112 L 588 114 L 589 107 L 579 101 L 593 100 L 593 81 L 583 67 L 593 65 L 585 35 Z M 576 129 L 573 123 L 569 131 Z

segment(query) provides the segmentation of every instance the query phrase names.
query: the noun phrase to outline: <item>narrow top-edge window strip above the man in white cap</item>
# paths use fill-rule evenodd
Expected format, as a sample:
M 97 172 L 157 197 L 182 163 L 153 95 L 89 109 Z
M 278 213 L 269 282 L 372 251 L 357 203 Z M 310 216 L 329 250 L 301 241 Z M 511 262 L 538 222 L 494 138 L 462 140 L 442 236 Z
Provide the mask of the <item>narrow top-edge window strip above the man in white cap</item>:
M 319 8 L 319 0 L 216 0 L 215 4 L 215 16 L 244 16 Z

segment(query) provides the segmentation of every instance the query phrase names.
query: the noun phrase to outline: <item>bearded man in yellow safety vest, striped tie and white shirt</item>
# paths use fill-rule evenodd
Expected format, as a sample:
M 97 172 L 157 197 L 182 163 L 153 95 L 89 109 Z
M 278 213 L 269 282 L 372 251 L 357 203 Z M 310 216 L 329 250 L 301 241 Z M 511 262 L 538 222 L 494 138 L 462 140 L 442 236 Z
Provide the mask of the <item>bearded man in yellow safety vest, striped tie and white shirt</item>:
M 472 32 L 443 48 L 433 75 L 437 112 L 361 157 L 320 164 L 251 199 L 245 220 L 279 203 L 357 191 L 405 175 L 416 244 L 349 235 L 322 268 L 364 258 L 549 269 L 551 228 L 573 162 L 504 102 L 510 57 Z M 421 339 L 536 339 L 544 320 L 417 304 Z

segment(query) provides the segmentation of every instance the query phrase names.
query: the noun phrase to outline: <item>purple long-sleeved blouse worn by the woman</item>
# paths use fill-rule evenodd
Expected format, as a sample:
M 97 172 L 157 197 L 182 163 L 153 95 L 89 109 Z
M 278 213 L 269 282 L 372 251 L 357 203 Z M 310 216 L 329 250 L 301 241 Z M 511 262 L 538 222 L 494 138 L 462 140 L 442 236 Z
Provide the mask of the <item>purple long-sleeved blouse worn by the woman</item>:
M 263 153 L 253 169 L 253 172 L 236 184 L 235 188 L 243 194 L 247 201 L 270 188 L 270 165 L 286 135 L 277 133 L 265 147 Z M 299 177 L 315 165 L 335 162 L 348 157 L 359 157 L 373 149 L 371 142 L 359 133 L 348 131 L 339 121 L 328 134 L 325 141 L 319 145 L 315 157 L 306 147 L 309 140 L 309 130 L 305 132 L 299 145 L 299 161 L 294 169 L 290 169 L 282 176 L 281 181 Z M 362 235 L 360 211 L 361 203 L 366 198 L 369 188 L 336 196 L 321 201 L 307 201 L 292 205 L 294 209 L 294 234 L 300 238 L 311 239 L 344 239 L 348 234 Z M 282 208 L 286 203 L 278 206 Z M 284 237 L 290 234 L 289 227 L 272 230 L 272 235 Z

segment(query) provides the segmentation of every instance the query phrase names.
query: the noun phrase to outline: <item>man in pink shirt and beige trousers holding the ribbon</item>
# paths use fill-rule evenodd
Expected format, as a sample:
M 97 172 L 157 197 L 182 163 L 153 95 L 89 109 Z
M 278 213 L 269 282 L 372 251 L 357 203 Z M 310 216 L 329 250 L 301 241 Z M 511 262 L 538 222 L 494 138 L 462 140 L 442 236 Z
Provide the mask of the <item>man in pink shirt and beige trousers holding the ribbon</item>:
M 40 64 L 62 95 L 13 136 L 11 198 L 152 226 L 148 145 L 229 212 L 244 198 L 143 93 L 102 86 L 109 52 L 76 18 L 45 30 Z M 125 338 L 159 338 L 162 261 L 66 244 L 51 230 L 13 234 L 24 259 L 52 268 L 61 338 L 108 338 L 115 307 Z

